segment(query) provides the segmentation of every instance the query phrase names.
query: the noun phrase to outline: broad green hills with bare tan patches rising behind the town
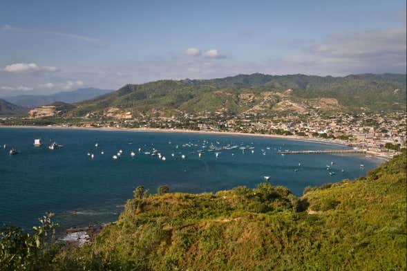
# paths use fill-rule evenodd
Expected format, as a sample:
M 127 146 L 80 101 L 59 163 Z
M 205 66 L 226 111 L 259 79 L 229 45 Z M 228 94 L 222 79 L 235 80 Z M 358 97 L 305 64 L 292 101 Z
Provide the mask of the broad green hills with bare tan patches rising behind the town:
M 287 92 L 287 89 L 292 91 Z M 286 95 L 281 95 L 284 91 Z M 247 100 L 247 97 L 251 98 Z M 295 111 L 301 107 L 311 111 L 324 109 L 326 100 L 321 98 L 333 102 L 334 107 L 326 108 L 329 111 L 405 110 L 406 75 L 319 77 L 255 73 L 213 80 L 161 80 L 128 84 L 113 93 L 79 102 L 66 116 L 108 115 L 112 109 L 135 116 L 176 111 L 245 113 L 253 106 L 265 112 Z M 278 104 L 285 101 L 294 106 Z

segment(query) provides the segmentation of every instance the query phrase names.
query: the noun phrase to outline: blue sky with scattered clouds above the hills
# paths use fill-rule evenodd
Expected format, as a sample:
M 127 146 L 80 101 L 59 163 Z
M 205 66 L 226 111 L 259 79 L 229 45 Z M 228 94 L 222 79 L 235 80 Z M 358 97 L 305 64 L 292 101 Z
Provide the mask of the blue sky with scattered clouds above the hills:
M 0 95 L 406 73 L 406 1 L 0 1 Z

